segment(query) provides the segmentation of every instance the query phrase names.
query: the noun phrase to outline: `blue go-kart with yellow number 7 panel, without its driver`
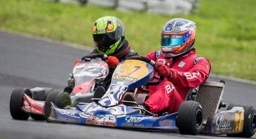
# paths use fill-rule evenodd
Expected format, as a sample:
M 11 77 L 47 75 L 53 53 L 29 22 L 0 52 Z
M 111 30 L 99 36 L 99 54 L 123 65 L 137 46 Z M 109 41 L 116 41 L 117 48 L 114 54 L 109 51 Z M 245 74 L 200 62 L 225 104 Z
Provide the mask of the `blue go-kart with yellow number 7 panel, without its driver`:
M 155 62 L 141 56 L 133 56 L 122 61 L 112 75 L 110 87 L 101 98 L 91 99 L 91 103 L 80 102 L 76 107 L 67 105 L 62 99 L 50 103 L 51 112 L 48 122 L 74 123 L 80 125 L 98 125 L 121 128 L 176 131 L 181 134 L 227 134 L 236 137 L 251 137 L 256 129 L 256 110 L 245 104 L 231 104 L 227 111 L 217 112 L 225 107 L 221 97 L 224 81 L 206 81 L 196 92 L 191 89 L 176 113 L 151 113 L 138 104 L 144 102 L 148 94 L 143 88 L 157 85 L 162 77 L 154 77 Z M 153 78 L 159 81 L 151 81 Z M 133 90 L 133 92 L 128 92 Z M 137 93 L 140 90 L 142 93 Z M 64 91 L 56 93 L 65 95 Z M 122 100 L 132 94 L 136 101 Z M 64 98 L 64 97 L 63 97 Z M 194 100 L 194 101 L 193 101 Z M 123 103 L 123 104 L 122 104 Z M 134 104 L 128 106 L 127 104 Z M 201 103 L 201 105 L 200 105 Z M 126 105 L 124 105 L 126 104 Z

